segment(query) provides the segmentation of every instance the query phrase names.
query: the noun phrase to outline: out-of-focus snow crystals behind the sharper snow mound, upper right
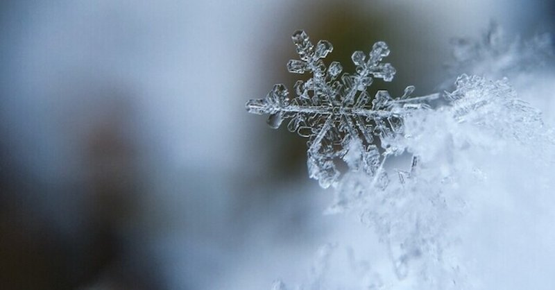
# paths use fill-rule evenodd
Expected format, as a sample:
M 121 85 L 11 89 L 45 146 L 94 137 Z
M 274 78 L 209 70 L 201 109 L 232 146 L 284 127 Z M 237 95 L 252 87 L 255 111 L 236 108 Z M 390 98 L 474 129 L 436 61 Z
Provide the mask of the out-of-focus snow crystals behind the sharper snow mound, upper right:
M 484 76 L 490 80 L 508 78 L 520 99 L 543 110 L 543 119 L 555 123 L 555 35 L 538 33 L 518 37 L 492 23 L 481 37 L 452 40 L 449 77 L 443 89 L 450 89 L 461 74 Z

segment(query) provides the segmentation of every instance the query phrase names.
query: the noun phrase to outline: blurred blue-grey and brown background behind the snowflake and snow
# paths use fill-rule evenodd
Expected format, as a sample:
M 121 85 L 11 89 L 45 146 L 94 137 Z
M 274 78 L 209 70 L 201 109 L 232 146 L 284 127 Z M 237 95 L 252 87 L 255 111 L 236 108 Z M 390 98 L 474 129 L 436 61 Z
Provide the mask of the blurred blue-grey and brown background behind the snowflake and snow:
M 297 79 L 291 33 L 330 40 L 345 71 L 384 40 L 398 74 L 373 89 L 424 95 L 452 37 L 554 33 L 554 16 L 551 0 L 1 1 L 0 288 L 301 278 L 359 229 L 323 216 L 306 140 L 244 109 Z

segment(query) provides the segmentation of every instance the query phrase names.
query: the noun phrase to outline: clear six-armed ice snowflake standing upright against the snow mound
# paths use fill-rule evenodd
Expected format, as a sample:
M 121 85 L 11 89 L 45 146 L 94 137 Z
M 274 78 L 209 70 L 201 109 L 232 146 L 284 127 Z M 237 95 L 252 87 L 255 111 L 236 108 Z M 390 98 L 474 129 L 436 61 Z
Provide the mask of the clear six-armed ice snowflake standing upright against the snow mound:
M 246 109 L 254 114 L 269 114 L 272 128 L 289 120 L 289 131 L 309 139 L 309 176 L 318 180 L 321 187 L 337 184 L 340 173 L 336 161 L 340 159 L 350 171 L 374 176 L 377 184 L 385 187 L 388 179 L 382 165 L 388 155 L 402 152 L 391 144 L 403 131 L 404 115 L 427 108 L 422 101 L 439 95 L 409 98 L 414 91 L 409 86 L 399 98 L 393 99 L 385 90 L 371 98 L 367 89 L 374 78 L 390 82 L 395 75 L 391 64 L 382 63 L 390 52 L 385 42 L 376 42 L 368 56 L 363 51 L 352 53 L 356 73 L 341 75 L 339 62 L 328 67 L 323 62 L 333 50 L 330 42 L 320 40 L 314 46 L 305 31 L 296 31 L 291 38 L 300 60 L 289 60 L 287 69 L 295 74 L 309 72 L 311 78 L 296 82 L 295 96 L 290 96 L 284 85 L 274 85 L 266 98 L 248 101 Z

